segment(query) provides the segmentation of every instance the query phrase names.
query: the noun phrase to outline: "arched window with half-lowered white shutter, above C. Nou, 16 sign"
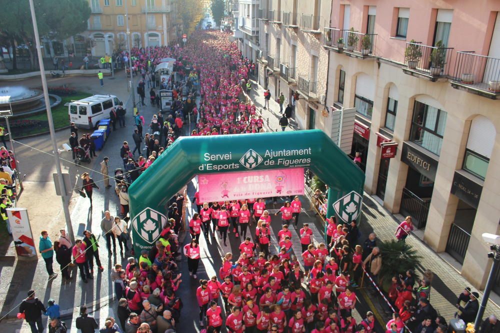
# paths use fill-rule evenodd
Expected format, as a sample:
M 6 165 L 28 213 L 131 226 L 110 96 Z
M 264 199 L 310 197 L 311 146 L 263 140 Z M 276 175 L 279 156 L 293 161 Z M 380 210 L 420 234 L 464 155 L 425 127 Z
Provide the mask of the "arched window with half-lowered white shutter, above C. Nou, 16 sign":
M 463 159 L 463 170 L 484 180 L 495 137 L 495 126 L 488 118 L 478 115 L 472 119 Z

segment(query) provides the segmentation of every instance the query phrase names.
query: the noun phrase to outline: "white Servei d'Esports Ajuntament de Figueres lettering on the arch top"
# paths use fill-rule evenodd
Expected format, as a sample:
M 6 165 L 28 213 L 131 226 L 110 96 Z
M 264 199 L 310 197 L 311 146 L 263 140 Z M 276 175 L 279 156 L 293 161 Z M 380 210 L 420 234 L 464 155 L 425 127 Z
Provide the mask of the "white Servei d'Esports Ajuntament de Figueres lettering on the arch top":
M 198 170 L 204 172 L 217 172 L 222 170 L 245 171 L 252 170 L 256 167 L 259 167 L 259 169 L 266 169 L 268 167 L 304 167 L 310 165 L 310 156 L 310 147 L 282 150 L 265 149 L 263 153 L 248 149 L 239 159 L 239 163 L 236 163 L 230 151 L 223 154 L 212 154 L 207 152 L 202 155 Z

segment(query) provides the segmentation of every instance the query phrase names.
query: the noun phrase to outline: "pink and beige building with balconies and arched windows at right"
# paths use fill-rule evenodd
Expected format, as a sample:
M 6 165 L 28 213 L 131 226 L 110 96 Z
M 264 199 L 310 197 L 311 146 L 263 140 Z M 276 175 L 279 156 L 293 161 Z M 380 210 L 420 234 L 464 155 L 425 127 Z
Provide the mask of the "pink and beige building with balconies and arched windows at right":
M 424 242 L 483 288 L 491 261 L 481 234 L 498 234 L 500 218 L 500 3 L 331 6 L 328 112 L 317 127 L 336 136 L 334 114 L 353 109 L 346 152 L 361 153 L 365 191 L 412 216 Z

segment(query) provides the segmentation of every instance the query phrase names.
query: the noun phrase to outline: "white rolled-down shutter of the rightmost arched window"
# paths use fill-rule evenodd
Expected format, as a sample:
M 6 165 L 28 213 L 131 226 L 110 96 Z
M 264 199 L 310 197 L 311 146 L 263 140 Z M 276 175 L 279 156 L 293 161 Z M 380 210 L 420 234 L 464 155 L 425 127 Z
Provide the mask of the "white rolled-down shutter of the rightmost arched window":
M 485 116 L 475 116 L 470 123 L 467 149 L 479 155 L 491 158 L 495 136 L 496 130 L 493 123 Z

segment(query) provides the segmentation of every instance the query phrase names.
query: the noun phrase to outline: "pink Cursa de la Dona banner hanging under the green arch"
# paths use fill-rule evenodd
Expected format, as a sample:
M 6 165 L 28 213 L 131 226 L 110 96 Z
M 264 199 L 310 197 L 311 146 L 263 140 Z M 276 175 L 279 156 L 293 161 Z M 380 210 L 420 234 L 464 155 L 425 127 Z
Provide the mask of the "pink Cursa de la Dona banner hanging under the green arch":
M 198 175 L 199 201 L 214 202 L 304 194 L 304 169 Z

